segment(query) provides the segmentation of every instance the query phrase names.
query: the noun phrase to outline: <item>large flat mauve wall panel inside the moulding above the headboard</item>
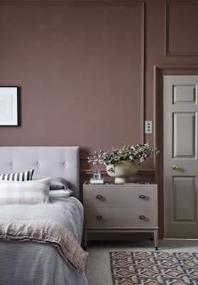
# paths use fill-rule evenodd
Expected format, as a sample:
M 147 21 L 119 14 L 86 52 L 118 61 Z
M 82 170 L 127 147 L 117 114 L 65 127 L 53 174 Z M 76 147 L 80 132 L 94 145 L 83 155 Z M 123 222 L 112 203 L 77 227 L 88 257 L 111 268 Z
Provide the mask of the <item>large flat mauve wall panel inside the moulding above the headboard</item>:
M 1 4 L 1 85 L 21 87 L 21 126 L 1 128 L 1 145 L 139 142 L 140 11 Z

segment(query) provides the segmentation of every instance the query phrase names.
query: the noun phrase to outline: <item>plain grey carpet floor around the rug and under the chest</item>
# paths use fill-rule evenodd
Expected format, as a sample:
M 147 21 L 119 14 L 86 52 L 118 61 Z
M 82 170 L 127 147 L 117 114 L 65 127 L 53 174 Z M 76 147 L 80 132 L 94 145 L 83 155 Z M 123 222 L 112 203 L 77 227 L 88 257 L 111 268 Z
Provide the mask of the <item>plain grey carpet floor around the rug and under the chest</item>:
M 110 274 L 109 252 L 154 251 L 153 241 L 89 242 L 86 276 L 89 285 L 113 285 Z M 198 252 L 198 240 L 160 239 L 158 250 L 163 252 Z

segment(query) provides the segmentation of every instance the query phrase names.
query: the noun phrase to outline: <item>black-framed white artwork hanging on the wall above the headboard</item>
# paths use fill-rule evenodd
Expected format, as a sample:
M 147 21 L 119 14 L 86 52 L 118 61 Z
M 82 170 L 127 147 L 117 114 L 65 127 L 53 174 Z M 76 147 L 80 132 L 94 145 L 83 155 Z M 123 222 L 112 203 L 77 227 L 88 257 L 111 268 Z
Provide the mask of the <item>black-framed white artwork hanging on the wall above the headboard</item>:
M 17 96 L 17 87 L 0 87 L 0 125 L 18 125 Z

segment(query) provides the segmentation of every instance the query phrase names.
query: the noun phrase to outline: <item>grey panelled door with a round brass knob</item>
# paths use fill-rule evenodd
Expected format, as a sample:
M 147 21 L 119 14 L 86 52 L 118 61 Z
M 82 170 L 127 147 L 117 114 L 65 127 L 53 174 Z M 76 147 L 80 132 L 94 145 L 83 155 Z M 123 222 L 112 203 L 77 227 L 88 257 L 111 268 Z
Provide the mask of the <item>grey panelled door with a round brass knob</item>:
M 164 76 L 165 237 L 198 238 L 198 76 Z

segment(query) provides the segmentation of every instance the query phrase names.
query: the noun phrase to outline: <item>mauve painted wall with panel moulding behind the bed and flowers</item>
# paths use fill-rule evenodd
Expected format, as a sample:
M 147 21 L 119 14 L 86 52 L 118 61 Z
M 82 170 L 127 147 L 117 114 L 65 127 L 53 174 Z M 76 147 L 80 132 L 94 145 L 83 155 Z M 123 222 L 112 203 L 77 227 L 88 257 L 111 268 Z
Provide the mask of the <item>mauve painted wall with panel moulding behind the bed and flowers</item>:
M 0 1 L 0 86 L 21 88 L 0 144 L 79 145 L 81 181 L 93 150 L 153 145 L 154 66 L 198 64 L 197 14 L 192 0 Z M 154 179 L 152 160 L 139 175 Z

